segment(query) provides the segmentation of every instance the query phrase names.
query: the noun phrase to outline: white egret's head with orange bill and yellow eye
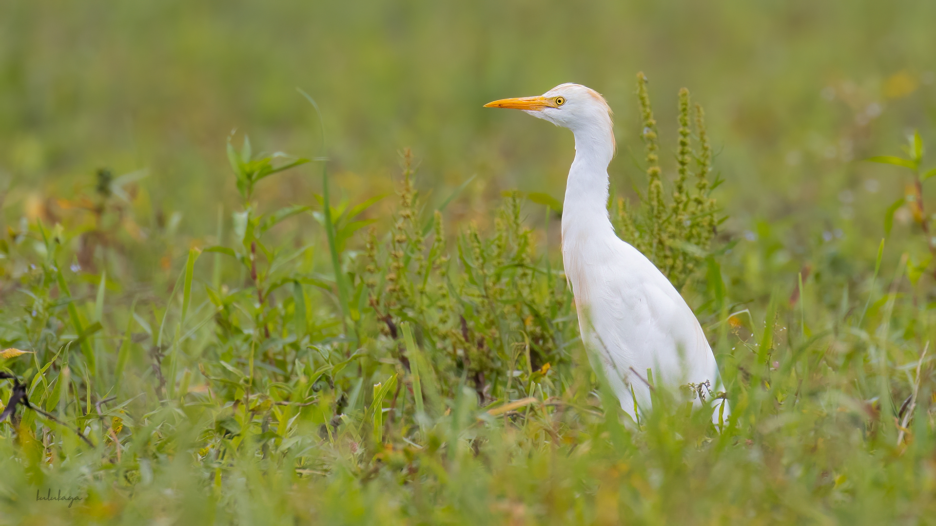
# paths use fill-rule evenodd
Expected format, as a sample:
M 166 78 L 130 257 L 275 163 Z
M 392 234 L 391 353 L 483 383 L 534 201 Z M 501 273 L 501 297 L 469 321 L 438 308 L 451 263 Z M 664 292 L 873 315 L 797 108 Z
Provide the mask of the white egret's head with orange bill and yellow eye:
M 484 105 L 485 108 L 512 108 L 524 110 L 574 133 L 590 133 L 601 129 L 613 140 L 611 108 L 592 88 L 581 84 L 560 84 L 543 95 L 502 98 Z

